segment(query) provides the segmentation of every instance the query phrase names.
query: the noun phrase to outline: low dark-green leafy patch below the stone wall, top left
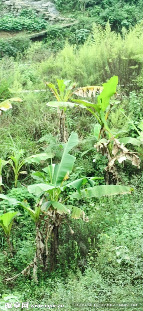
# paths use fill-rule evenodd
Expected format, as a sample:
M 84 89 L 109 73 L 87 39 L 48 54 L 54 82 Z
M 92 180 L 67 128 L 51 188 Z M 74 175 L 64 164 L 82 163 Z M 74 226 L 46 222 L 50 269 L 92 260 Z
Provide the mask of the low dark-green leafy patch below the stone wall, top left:
M 0 30 L 4 31 L 39 31 L 45 29 L 46 25 L 46 21 L 35 15 L 30 16 L 30 12 L 26 14 L 26 16 L 25 12 L 23 12 L 17 17 L 13 15 L 5 15 L 0 19 Z

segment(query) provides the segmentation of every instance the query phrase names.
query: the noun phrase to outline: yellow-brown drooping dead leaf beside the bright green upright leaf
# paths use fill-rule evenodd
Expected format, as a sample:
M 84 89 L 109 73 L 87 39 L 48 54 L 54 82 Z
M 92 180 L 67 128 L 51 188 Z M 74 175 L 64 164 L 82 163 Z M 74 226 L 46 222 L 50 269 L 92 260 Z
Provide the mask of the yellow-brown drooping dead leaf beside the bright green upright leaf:
M 93 94 L 93 96 L 95 97 L 96 93 L 100 94 L 102 91 L 103 86 L 84 86 L 73 92 L 73 94 L 81 97 L 91 97 L 91 95 Z

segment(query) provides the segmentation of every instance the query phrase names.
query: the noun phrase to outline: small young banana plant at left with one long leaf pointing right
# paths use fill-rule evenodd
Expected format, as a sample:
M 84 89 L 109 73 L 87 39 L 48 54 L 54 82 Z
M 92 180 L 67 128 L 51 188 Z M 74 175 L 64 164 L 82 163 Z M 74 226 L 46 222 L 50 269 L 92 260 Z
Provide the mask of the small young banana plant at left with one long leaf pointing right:
M 11 137 L 11 135 L 10 135 Z M 10 156 L 9 164 L 12 166 L 14 175 L 15 175 L 15 188 L 17 187 L 17 181 L 19 174 L 27 174 L 27 171 L 20 171 L 21 167 L 25 163 L 40 163 L 41 160 L 47 160 L 52 157 L 51 154 L 48 153 L 39 153 L 37 155 L 29 156 L 28 158 L 24 158 L 24 150 L 20 149 L 20 144 L 15 145 L 13 142 L 13 139 L 11 137 L 13 147 L 10 147 L 9 149 L 12 151 L 13 155 Z

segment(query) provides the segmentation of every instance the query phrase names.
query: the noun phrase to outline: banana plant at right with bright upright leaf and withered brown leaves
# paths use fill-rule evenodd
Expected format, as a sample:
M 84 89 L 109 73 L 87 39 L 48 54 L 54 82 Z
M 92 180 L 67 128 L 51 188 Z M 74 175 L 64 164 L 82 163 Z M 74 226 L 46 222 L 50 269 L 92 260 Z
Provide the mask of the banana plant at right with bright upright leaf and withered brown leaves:
M 122 163 L 124 160 L 130 160 L 132 165 L 140 168 L 141 160 L 137 156 L 137 153 L 129 151 L 125 145 L 127 143 L 131 143 L 139 146 L 143 143 L 141 139 L 139 141 L 132 137 L 123 137 L 117 139 L 119 135 L 125 131 L 119 131 L 118 133 L 112 132 L 112 130 L 109 128 L 109 125 L 107 124 L 110 112 L 120 103 L 120 101 L 111 100 L 111 96 L 116 94 L 117 84 L 117 76 L 113 76 L 108 82 L 103 83 L 103 91 L 97 98 L 97 104 L 93 104 L 85 100 L 71 99 L 78 104 L 82 104 L 82 107 L 85 106 L 85 108 L 90 111 L 98 121 L 98 123 L 96 123 L 94 126 L 94 135 L 98 141 L 94 147 L 97 148 L 98 151 L 99 149 L 102 150 L 103 155 L 106 155 L 109 160 L 108 165 L 105 168 L 107 172 L 107 183 L 109 183 L 108 171 L 112 173 L 112 179 L 114 179 L 116 183 L 119 182 L 119 174 L 115 167 L 116 160 L 118 160 L 119 163 Z

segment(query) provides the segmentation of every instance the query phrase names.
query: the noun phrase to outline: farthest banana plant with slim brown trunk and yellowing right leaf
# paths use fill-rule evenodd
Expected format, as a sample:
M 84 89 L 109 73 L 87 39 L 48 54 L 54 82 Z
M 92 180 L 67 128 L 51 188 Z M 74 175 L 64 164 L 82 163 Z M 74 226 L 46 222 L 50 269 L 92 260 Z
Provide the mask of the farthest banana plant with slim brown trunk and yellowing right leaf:
M 76 87 L 76 82 L 75 83 L 70 82 L 71 80 L 57 79 L 58 90 L 54 84 L 52 84 L 51 82 L 46 82 L 46 86 L 50 88 L 50 90 L 57 99 L 57 101 L 50 101 L 46 105 L 58 108 L 57 113 L 59 117 L 59 130 L 58 130 L 59 141 L 64 143 L 67 142 L 68 138 L 68 131 L 66 130 L 65 126 L 66 120 L 65 111 L 67 108 L 72 108 L 75 106 L 75 104 L 68 102 L 69 98 L 72 96 L 72 94 L 76 94 L 83 97 L 88 96 L 91 97 L 91 95 L 93 94 L 93 96 L 95 97 L 96 92 L 100 93 L 103 90 L 102 86 L 85 86 L 74 91 Z

